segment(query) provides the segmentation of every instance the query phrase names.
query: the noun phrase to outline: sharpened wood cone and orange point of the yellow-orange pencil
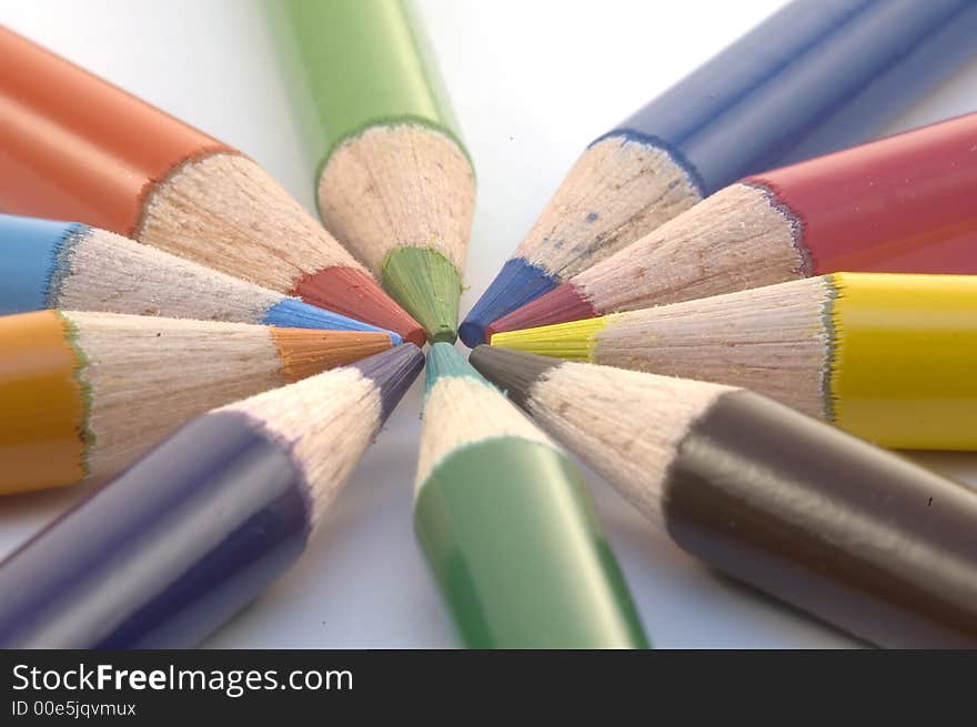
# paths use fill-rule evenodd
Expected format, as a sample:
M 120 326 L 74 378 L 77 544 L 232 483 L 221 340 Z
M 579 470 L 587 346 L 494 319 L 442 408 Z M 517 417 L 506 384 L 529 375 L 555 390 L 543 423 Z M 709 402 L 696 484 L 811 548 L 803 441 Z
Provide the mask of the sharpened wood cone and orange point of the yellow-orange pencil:
M 89 474 L 117 472 L 191 416 L 390 347 L 385 334 L 64 312 L 83 356 Z

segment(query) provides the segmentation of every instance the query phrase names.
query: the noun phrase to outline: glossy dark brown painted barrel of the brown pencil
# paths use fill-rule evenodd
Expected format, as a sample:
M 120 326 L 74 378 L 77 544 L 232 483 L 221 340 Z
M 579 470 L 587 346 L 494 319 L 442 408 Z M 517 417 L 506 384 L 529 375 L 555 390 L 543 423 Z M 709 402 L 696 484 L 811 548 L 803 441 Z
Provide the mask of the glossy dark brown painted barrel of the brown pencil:
M 977 645 L 977 496 L 770 400 L 699 417 L 663 511 L 689 553 L 874 644 Z

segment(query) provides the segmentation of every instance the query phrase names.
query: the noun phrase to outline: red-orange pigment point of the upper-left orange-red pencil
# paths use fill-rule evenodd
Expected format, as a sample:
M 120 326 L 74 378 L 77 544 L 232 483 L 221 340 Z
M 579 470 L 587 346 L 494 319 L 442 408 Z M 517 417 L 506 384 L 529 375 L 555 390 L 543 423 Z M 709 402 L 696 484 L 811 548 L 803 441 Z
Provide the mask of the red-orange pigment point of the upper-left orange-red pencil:
M 424 345 L 424 331 L 367 273 L 335 265 L 300 280 L 294 289 L 306 303 L 395 331 L 404 341 Z

